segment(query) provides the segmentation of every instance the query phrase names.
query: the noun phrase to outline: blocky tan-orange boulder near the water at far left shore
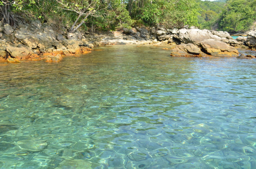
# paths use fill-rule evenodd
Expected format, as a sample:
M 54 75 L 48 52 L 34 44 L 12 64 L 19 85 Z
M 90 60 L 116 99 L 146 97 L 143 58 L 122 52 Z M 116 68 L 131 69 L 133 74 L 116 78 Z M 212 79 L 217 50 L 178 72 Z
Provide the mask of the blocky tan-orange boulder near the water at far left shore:
M 31 51 L 26 47 L 7 46 L 6 50 L 12 57 L 18 60 L 27 59 L 31 55 Z

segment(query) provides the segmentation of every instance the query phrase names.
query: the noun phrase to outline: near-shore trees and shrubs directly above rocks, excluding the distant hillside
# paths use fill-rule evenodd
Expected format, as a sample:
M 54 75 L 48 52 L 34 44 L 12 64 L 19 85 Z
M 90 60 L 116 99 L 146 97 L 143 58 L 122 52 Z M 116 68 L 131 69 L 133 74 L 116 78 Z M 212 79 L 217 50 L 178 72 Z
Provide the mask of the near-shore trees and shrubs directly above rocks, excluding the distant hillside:
M 0 13 L 12 26 L 22 18 L 37 18 L 74 32 L 80 26 L 91 31 L 136 24 L 197 26 L 198 10 L 194 0 L 4 0 Z

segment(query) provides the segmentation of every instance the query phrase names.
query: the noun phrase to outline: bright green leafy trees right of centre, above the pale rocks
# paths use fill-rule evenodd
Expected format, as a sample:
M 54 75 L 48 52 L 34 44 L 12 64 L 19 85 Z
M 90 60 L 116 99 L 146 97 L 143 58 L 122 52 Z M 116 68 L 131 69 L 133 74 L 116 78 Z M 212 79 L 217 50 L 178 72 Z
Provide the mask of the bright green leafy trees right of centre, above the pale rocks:
M 167 28 L 197 26 L 200 11 L 195 0 L 131 0 L 128 10 L 132 18 L 146 25 L 165 25 Z

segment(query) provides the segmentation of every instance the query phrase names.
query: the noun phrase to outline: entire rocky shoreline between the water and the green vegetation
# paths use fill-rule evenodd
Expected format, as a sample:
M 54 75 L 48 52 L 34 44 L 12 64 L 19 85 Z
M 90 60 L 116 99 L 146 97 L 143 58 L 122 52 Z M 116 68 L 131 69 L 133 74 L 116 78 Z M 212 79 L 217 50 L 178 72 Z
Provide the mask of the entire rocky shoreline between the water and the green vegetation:
M 134 28 L 119 32 L 89 34 L 84 31 L 68 33 L 54 30 L 40 21 L 19 25 L 0 25 L 0 61 L 21 60 L 59 62 L 63 56 L 86 54 L 94 46 L 113 44 L 175 45 L 171 56 L 207 57 L 239 55 L 237 48 L 256 50 L 256 34 L 234 40 L 228 32 L 195 28 L 165 29 Z M 246 57 L 246 56 L 245 56 Z M 247 56 L 250 57 L 250 56 Z M 246 57 L 246 58 L 247 58 Z M 243 58 L 243 57 L 238 57 Z M 254 56 L 251 56 L 254 58 Z

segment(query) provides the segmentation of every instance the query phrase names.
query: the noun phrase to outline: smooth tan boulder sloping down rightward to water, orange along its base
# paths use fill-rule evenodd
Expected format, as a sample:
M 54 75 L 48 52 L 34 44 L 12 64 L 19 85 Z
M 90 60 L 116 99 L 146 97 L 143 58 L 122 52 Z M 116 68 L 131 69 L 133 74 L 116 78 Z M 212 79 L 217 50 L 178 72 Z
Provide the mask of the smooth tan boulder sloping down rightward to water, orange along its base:
M 229 46 L 225 42 L 217 41 L 214 39 L 206 39 L 200 42 L 200 47 L 206 54 L 212 56 L 238 56 L 238 51 L 236 48 Z

